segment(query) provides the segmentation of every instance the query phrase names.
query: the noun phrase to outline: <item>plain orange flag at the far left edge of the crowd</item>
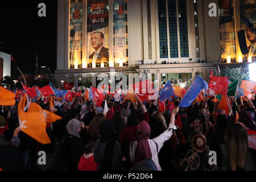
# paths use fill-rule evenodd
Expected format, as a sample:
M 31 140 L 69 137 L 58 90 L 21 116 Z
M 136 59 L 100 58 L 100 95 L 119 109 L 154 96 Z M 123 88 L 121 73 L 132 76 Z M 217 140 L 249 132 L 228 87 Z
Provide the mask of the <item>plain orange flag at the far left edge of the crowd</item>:
M 0 104 L 2 106 L 15 105 L 15 93 L 0 86 Z

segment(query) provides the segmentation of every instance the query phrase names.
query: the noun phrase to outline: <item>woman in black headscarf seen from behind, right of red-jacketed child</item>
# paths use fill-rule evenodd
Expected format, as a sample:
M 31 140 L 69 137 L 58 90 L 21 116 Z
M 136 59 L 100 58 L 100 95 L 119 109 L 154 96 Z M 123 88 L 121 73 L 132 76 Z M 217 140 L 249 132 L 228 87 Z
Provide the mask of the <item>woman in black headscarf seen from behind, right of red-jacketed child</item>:
M 104 121 L 100 125 L 101 137 L 94 146 L 94 159 L 98 163 L 98 171 L 122 169 L 121 144 L 114 138 L 115 128 L 113 121 Z

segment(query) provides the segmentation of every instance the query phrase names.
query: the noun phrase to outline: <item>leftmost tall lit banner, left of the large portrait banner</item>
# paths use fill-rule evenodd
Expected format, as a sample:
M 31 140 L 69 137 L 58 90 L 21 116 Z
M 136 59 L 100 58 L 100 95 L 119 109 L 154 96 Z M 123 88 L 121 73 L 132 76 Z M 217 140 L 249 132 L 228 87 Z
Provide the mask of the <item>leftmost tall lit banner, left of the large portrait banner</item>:
M 82 64 L 82 2 L 72 2 L 71 3 L 71 14 L 72 19 L 70 20 L 71 28 L 70 36 L 71 42 L 69 43 L 71 49 L 71 56 L 69 57 L 69 65 L 74 68 L 81 67 Z

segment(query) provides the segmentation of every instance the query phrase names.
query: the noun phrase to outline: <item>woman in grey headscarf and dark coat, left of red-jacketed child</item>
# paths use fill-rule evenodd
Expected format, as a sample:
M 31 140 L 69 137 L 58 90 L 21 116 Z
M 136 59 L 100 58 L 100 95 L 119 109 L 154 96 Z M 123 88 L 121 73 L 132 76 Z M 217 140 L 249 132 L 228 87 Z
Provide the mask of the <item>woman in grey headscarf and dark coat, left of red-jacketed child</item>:
M 84 123 L 76 118 L 68 122 L 67 137 L 65 137 L 63 148 L 60 150 L 61 169 L 77 170 L 80 157 L 84 154 L 84 142 L 80 138 L 80 132 L 84 127 Z

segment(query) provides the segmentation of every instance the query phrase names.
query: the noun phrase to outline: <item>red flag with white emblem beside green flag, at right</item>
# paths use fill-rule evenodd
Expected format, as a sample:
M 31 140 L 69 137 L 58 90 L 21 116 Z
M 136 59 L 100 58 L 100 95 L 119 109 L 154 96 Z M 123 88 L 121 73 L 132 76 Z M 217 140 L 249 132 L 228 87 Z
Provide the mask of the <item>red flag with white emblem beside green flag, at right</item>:
M 209 88 L 214 92 L 225 95 L 228 93 L 229 77 L 210 75 Z

